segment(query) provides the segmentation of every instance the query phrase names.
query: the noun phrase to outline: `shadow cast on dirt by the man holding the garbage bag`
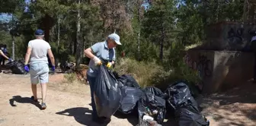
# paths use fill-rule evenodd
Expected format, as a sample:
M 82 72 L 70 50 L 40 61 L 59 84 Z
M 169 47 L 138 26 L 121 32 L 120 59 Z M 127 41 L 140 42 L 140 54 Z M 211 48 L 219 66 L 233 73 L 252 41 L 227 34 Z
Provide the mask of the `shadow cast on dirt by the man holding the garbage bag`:
M 109 122 L 106 122 L 104 124 L 97 124 L 91 121 L 91 110 L 88 108 L 72 108 L 72 109 L 66 109 L 62 112 L 56 112 L 57 115 L 66 115 L 66 116 L 73 116 L 75 118 L 75 121 L 77 121 L 80 124 L 85 124 L 88 126 L 106 126 Z

